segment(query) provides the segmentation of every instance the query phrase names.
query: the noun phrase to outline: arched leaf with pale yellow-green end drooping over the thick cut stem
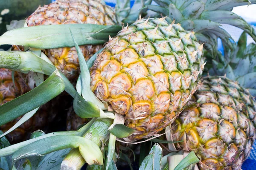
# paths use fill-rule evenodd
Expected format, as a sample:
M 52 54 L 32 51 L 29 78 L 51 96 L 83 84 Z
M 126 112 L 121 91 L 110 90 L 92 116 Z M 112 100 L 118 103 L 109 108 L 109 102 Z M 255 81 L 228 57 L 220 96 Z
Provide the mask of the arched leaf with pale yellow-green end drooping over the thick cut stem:
M 94 142 L 80 136 L 67 135 L 50 136 L 26 145 L 13 153 L 12 160 L 15 162 L 29 156 L 42 156 L 65 148 L 79 148 L 88 164 L 103 164 L 102 153 Z

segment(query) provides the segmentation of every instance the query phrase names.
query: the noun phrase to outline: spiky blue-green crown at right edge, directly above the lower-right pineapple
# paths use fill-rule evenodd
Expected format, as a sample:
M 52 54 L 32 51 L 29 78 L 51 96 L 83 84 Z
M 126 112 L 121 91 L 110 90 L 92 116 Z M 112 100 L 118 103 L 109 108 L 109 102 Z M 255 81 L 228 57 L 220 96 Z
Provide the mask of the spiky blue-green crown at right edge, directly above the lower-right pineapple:
M 246 42 L 247 34 L 244 31 L 237 45 L 233 43 L 235 51 L 224 46 L 224 55 L 218 51 L 217 57 L 213 59 L 206 54 L 206 71 L 210 75 L 226 75 L 247 88 L 252 96 L 256 96 L 256 44 L 247 45 Z

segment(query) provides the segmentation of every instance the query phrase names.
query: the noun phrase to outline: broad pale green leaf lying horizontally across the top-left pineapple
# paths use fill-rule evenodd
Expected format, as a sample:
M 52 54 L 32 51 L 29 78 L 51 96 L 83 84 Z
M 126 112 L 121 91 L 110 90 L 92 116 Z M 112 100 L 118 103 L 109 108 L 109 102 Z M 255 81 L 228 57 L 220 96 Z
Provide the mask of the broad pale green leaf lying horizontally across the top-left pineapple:
M 23 45 L 39 49 L 73 47 L 69 28 L 73 31 L 78 45 L 86 45 L 107 42 L 108 37 L 116 36 L 122 26 L 60 24 L 18 28 L 3 34 L 0 37 L 0 45 Z

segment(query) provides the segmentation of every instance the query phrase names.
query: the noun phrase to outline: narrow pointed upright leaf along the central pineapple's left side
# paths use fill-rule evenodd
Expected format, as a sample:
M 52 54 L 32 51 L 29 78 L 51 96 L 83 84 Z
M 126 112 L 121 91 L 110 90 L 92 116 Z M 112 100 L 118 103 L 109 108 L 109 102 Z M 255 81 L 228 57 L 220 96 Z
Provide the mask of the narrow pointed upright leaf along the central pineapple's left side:
M 87 67 L 86 61 L 84 59 L 84 56 L 82 54 L 81 49 L 79 48 L 78 44 L 76 43 L 76 40 L 73 36 L 73 33 L 70 29 L 70 34 L 71 37 L 74 41 L 76 51 L 78 54 L 78 59 L 79 59 L 79 65 L 81 69 L 81 82 L 82 82 L 82 96 L 84 99 L 94 103 L 95 105 L 99 106 L 102 110 L 106 110 L 105 105 L 99 101 L 99 99 L 93 94 L 93 92 L 90 89 L 90 71 L 89 68 Z

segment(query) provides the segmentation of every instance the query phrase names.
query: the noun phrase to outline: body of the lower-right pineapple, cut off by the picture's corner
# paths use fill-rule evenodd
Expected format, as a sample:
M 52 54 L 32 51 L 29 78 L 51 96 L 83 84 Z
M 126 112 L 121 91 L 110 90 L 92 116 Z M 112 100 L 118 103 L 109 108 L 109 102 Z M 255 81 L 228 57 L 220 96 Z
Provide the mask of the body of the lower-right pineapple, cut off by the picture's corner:
M 256 137 L 256 101 L 226 77 L 205 77 L 172 123 L 178 149 L 194 151 L 201 170 L 239 170 Z

